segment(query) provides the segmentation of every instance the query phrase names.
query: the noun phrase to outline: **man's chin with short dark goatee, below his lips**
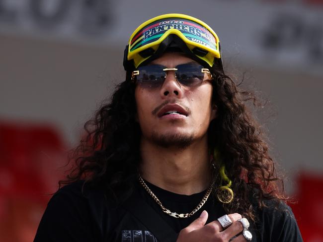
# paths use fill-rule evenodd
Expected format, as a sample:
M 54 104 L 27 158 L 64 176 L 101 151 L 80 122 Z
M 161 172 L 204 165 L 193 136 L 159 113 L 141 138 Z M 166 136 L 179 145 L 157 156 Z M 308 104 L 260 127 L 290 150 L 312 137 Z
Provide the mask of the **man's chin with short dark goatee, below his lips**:
M 151 141 L 163 148 L 185 149 L 193 143 L 194 134 L 157 134 L 153 133 Z

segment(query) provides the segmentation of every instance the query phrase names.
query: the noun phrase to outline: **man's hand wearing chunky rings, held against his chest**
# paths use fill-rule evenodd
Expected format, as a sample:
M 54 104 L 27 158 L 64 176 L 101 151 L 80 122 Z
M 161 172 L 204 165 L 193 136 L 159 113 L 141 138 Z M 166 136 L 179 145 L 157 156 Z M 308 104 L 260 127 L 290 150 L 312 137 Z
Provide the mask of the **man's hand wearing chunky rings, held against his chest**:
M 225 230 L 217 220 L 205 225 L 208 216 L 204 210 L 198 219 L 179 232 L 176 242 L 229 242 L 243 230 L 242 223 L 238 221 L 242 218 L 239 213 L 228 215 L 232 224 Z M 231 242 L 246 242 L 246 239 L 240 235 Z

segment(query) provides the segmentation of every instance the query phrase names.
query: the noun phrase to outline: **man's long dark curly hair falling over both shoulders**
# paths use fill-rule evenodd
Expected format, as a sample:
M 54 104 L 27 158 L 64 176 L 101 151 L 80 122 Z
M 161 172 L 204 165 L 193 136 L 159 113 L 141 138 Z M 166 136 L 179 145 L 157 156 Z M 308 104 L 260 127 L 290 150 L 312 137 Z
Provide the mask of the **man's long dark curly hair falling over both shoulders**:
M 268 144 L 260 125 L 253 119 L 247 102 L 257 99 L 252 92 L 239 90 L 235 81 L 222 71 L 211 70 L 213 75 L 213 103 L 217 118 L 208 129 L 209 150 L 213 156 L 213 194 L 222 185 L 220 165 L 232 182 L 234 199 L 224 203 L 226 212 L 239 212 L 255 219 L 250 196 L 258 206 L 266 200 L 286 200 L 283 181 L 278 178 L 275 163 L 268 154 Z M 111 99 L 102 104 L 94 117 L 84 124 L 86 135 L 72 150 L 73 168 L 60 186 L 85 180 L 103 186 L 115 198 L 127 197 L 138 179 L 141 130 L 136 117 L 135 84 L 127 73 Z M 122 200 L 122 199 L 121 199 Z M 277 203 L 278 205 L 278 203 Z

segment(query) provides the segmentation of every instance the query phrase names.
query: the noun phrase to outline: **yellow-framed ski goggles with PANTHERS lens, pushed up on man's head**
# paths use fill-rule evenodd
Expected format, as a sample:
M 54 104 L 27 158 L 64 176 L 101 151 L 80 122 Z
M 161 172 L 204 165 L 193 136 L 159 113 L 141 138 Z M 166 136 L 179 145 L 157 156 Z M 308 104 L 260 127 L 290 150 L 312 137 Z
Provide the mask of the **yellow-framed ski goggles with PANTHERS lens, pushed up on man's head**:
M 221 60 L 219 38 L 203 21 L 184 14 L 164 14 L 141 24 L 131 35 L 125 50 L 125 69 L 137 68 L 157 53 L 169 35 L 176 35 L 188 48 L 186 54 L 210 67 Z M 169 43 L 166 43 L 167 45 Z M 145 64 L 147 62 L 144 62 Z M 222 62 L 221 62 L 222 63 Z

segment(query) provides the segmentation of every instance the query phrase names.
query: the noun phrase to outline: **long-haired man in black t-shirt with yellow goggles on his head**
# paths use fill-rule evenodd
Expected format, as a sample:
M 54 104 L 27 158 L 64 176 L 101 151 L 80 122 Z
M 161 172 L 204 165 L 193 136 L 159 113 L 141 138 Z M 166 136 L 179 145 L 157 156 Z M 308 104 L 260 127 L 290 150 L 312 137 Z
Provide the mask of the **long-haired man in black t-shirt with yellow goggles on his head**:
M 148 20 L 124 66 L 126 81 L 85 124 L 35 242 L 302 241 L 245 107 L 252 96 L 224 73 L 207 24 Z

